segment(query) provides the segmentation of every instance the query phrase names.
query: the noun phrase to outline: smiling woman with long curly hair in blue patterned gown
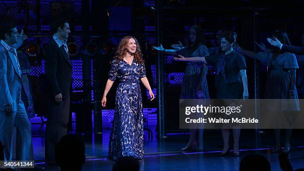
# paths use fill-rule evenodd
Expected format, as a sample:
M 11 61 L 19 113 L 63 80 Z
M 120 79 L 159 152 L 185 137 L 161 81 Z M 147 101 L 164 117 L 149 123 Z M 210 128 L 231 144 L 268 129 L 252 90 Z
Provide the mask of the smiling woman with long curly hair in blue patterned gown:
M 115 114 L 109 142 L 109 158 L 133 156 L 143 159 L 143 107 L 140 81 L 149 90 L 151 100 L 154 94 L 146 78 L 146 70 L 138 41 L 133 36 L 124 37 L 111 63 L 101 104 L 106 105 L 106 95 L 116 78 L 120 84 L 116 90 Z

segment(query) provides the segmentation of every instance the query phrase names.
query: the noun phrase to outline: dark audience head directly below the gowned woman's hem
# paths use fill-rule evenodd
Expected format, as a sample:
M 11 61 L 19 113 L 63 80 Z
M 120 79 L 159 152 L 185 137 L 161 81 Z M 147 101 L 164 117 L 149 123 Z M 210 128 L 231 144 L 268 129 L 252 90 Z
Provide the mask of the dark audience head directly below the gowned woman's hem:
M 114 163 L 112 171 L 139 171 L 140 163 L 133 156 L 120 157 Z

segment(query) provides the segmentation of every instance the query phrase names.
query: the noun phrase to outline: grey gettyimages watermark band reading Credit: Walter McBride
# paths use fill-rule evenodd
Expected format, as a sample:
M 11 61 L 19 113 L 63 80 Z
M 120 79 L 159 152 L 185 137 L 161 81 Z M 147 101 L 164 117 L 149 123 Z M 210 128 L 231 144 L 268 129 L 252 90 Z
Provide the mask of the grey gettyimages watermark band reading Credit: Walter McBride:
M 180 99 L 180 129 L 304 129 L 303 99 Z

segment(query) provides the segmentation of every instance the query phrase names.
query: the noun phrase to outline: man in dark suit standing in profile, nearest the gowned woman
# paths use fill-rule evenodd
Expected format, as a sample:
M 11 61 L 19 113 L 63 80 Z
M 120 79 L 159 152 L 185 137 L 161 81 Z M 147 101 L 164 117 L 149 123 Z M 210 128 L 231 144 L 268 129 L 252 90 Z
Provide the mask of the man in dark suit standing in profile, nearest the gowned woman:
M 68 21 L 52 23 L 54 35 L 46 47 L 45 69 L 48 84 L 48 120 L 45 141 L 45 159 L 55 164 L 55 146 L 67 135 L 70 110 L 70 85 L 72 64 L 69 59 L 67 40 L 70 26 Z

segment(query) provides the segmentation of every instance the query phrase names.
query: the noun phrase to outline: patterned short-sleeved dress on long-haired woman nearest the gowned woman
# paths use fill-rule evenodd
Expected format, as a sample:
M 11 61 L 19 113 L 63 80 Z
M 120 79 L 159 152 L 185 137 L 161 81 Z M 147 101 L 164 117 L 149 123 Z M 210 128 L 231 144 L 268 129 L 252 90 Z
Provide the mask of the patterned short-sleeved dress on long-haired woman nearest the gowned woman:
M 181 48 L 176 51 L 177 54 L 180 54 L 184 57 L 205 57 L 208 56 L 208 49 L 205 45 L 200 45 L 194 52 L 190 52 L 188 47 Z M 202 67 L 207 67 L 203 63 L 199 62 L 186 62 L 187 66 L 184 71 L 183 84 L 180 92 L 181 99 L 198 99 L 197 89 L 198 86 L 202 88 L 202 99 L 208 99 L 209 90 L 206 77 L 203 78 L 204 81 L 199 85 L 201 79 Z

